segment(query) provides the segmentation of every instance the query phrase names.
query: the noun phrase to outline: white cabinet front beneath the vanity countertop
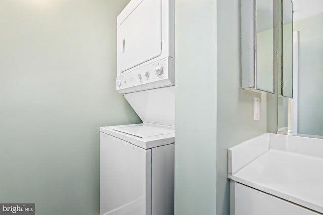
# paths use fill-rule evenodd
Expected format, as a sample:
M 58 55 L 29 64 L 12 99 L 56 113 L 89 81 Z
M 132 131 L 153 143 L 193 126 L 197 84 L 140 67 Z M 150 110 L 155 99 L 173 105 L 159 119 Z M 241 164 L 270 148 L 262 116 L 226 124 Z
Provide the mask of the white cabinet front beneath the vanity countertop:
M 230 215 L 318 215 L 296 204 L 231 182 Z

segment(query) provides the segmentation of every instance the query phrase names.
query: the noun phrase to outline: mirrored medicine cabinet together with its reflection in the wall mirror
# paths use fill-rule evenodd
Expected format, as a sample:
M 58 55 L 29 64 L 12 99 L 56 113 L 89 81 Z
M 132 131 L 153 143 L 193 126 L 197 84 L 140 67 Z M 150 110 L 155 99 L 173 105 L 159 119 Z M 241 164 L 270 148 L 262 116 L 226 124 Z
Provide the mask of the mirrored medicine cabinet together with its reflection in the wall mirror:
M 293 97 L 291 0 L 241 0 L 241 88 Z

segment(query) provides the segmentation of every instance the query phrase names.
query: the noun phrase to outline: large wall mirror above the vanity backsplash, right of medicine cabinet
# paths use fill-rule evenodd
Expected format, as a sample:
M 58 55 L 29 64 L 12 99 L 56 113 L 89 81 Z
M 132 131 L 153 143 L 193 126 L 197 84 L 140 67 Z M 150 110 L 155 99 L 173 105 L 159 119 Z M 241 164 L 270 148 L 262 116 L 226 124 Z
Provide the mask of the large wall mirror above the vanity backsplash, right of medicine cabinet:
M 284 20 L 290 4 L 282 1 Z M 283 54 L 281 89 L 282 94 L 292 91 L 292 98 L 278 98 L 278 131 L 323 136 L 323 1 L 292 0 L 292 7 L 293 40 L 283 39 L 283 49 L 292 46 L 292 55 Z M 283 21 L 283 33 L 288 25 Z M 291 73 L 286 67 L 292 67 Z

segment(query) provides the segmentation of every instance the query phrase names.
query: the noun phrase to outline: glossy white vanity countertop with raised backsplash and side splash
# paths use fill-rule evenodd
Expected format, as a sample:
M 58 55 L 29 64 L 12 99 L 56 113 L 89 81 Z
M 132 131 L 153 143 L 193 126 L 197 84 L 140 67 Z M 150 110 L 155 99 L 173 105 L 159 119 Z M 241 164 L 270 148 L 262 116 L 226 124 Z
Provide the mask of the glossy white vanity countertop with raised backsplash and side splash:
M 228 178 L 323 213 L 323 140 L 264 134 L 228 149 Z

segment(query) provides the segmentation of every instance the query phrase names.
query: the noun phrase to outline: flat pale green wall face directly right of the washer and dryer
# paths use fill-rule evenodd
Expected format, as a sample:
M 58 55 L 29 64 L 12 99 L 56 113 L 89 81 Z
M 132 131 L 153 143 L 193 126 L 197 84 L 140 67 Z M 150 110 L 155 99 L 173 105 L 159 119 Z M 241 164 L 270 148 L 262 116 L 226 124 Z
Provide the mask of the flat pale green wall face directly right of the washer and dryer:
M 175 214 L 216 214 L 216 0 L 175 4 Z

